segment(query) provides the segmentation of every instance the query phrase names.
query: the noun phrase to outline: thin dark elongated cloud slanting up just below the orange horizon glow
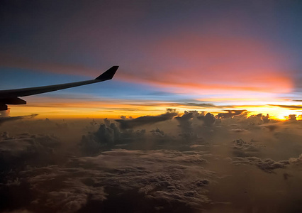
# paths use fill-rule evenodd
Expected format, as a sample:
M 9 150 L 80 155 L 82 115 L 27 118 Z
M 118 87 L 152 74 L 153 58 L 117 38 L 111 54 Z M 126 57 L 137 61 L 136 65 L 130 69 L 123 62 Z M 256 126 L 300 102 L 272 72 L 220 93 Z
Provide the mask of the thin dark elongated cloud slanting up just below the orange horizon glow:
M 120 123 L 121 129 L 132 129 L 136 126 L 167 121 L 172 119 L 174 116 L 177 116 L 177 114 L 178 113 L 174 109 L 167 109 L 165 114 L 160 114 L 158 116 L 141 116 L 136 119 L 117 119 L 116 121 Z

